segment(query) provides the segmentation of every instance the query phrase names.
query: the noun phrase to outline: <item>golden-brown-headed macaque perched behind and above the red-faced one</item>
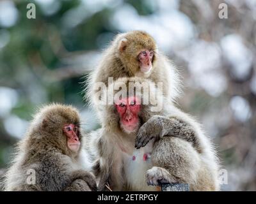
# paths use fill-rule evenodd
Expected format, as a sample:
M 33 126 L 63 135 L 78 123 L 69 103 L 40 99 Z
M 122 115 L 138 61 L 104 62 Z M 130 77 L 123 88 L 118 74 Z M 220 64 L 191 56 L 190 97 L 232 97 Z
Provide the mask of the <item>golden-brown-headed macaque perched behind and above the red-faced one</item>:
M 112 78 L 111 78 L 112 77 Z M 103 54 L 99 66 L 88 80 L 88 99 L 97 104 L 100 83 L 108 87 L 109 80 L 121 77 L 148 78 L 163 83 L 163 94 L 173 100 L 179 95 L 177 70 L 161 52 L 156 42 L 144 31 L 118 34 Z M 96 106 L 97 110 L 101 106 Z

